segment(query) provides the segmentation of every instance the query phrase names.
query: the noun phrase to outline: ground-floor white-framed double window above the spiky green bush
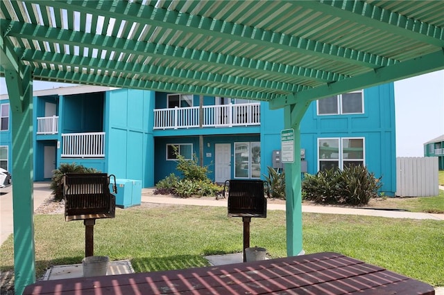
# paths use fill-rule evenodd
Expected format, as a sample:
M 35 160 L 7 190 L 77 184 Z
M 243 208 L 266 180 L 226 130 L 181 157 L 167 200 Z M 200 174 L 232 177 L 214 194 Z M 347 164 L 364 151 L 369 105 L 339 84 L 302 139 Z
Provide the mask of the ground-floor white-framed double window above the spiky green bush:
M 364 138 L 318 138 L 318 170 L 364 166 Z

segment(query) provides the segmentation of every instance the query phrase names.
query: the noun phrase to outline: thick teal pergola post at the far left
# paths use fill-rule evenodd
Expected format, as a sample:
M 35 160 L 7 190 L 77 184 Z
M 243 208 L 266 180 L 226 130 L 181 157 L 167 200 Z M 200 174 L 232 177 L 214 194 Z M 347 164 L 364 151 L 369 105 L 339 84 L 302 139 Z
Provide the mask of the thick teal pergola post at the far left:
M 33 84 L 31 67 L 19 64 L 8 40 L 0 36 L 1 66 L 11 106 L 15 294 L 35 283 L 33 202 Z

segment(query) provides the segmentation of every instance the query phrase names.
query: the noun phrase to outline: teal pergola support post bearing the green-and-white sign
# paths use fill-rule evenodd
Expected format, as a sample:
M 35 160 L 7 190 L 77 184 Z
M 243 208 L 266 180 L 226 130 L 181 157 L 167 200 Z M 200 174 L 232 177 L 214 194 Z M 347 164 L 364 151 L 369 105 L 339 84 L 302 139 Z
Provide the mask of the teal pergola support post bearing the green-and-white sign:
M 300 121 L 309 102 L 284 108 L 284 128 L 294 130 L 294 162 L 285 163 L 287 256 L 297 256 L 302 251 L 302 178 L 300 168 Z

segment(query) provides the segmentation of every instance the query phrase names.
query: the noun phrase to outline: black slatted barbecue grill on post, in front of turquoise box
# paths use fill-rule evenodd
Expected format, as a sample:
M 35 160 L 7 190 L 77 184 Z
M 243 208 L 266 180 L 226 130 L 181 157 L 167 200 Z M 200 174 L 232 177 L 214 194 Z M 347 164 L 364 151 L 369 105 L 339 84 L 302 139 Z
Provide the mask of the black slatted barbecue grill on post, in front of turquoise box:
M 116 177 L 113 193 L 117 193 Z M 99 218 L 114 218 L 116 197 L 110 193 L 106 173 L 66 173 L 63 176 L 65 221 L 83 220 L 85 224 L 85 257 L 94 256 L 94 224 Z

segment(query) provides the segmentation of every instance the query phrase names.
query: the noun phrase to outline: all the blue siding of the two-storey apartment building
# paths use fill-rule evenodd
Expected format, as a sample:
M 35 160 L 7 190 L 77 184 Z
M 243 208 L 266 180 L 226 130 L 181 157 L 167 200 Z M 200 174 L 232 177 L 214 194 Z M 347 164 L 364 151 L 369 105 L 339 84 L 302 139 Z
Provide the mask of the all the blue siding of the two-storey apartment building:
M 97 99 L 99 98 L 99 99 Z M 200 96 L 193 96 L 199 105 Z M 7 103 L 8 100 L 0 101 Z M 44 116 L 44 103 L 58 104 L 59 134 L 35 136 L 35 179 L 43 177 L 44 146 L 56 145 L 62 133 L 105 132 L 105 159 L 61 159 L 60 163 L 78 163 L 116 175 L 119 179 L 138 179 L 151 187 L 176 171 L 176 162 L 166 160 L 167 143 L 192 143 L 200 159 L 199 137 L 203 136 L 203 165 L 214 179 L 214 145 L 230 143 L 234 168 L 235 142 L 261 142 L 261 172 L 272 165 L 273 150 L 280 150 L 280 132 L 284 128 L 283 109 L 271 110 L 261 102 L 261 125 L 153 130 L 153 109 L 167 107 L 167 93 L 135 89 L 44 96 L 34 98 L 34 117 Z M 203 96 L 203 105 L 214 105 L 212 96 Z M 312 102 L 301 122 L 301 147 L 305 149 L 308 172 L 318 169 L 318 138 L 365 138 L 365 161 L 370 172 L 382 176 L 382 191 L 395 193 L 395 105 L 393 83 L 365 89 L 364 114 L 318 116 Z M 36 123 L 35 120 L 35 132 Z M 35 134 L 34 132 L 34 134 Z M 11 145 L 10 131 L 0 132 L 1 145 Z M 11 149 L 9 153 L 11 154 Z M 9 156 L 10 159 L 10 156 Z M 11 160 L 11 159 L 10 159 Z M 11 162 L 9 166 L 11 166 Z M 234 177 L 234 171 L 231 172 Z

